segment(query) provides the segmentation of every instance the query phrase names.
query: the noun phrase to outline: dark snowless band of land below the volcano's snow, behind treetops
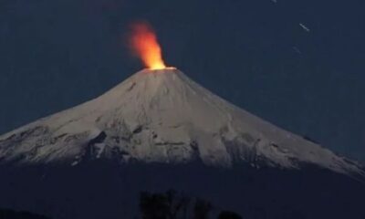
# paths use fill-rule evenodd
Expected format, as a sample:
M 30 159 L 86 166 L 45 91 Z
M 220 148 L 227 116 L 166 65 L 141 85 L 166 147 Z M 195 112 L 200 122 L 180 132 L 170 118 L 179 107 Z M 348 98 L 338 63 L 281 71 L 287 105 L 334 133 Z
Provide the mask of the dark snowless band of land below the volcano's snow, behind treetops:
M 134 218 L 142 191 L 181 191 L 244 218 L 365 218 L 365 185 L 317 167 L 301 171 L 201 164 L 2 166 L 0 206 L 56 219 Z

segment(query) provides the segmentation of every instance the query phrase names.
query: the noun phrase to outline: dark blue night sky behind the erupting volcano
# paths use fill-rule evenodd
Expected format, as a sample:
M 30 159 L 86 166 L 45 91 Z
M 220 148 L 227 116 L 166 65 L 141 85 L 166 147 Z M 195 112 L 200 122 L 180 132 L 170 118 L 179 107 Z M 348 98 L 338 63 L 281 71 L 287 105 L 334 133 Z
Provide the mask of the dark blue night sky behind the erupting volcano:
M 365 162 L 364 12 L 364 0 L 2 0 L 0 133 L 143 68 L 126 36 L 146 21 L 169 66 Z

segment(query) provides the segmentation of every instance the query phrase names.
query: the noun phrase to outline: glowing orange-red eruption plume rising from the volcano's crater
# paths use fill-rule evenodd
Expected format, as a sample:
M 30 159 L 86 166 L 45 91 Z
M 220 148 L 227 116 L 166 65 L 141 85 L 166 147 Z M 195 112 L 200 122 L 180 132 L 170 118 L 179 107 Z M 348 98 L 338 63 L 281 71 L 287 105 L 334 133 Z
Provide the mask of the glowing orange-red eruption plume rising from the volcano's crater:
M 157 42 L 157 37 L 147 24 L 137 23 L 132 26 L 130 47 L 132 52 L 141 58 L 147 68 L 166 68 L 162 60 L 162 50 Z

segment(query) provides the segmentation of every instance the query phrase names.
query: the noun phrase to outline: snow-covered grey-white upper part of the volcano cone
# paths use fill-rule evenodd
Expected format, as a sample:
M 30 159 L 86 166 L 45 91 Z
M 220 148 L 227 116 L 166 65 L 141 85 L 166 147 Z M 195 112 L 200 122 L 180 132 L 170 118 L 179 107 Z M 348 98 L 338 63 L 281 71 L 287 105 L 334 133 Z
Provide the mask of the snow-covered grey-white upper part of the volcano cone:
M 363 174 L 358 164 L 281 130 L 175 68 L 142 70 L 97 99 L 0 136 L 0 161 L 302 164 Z

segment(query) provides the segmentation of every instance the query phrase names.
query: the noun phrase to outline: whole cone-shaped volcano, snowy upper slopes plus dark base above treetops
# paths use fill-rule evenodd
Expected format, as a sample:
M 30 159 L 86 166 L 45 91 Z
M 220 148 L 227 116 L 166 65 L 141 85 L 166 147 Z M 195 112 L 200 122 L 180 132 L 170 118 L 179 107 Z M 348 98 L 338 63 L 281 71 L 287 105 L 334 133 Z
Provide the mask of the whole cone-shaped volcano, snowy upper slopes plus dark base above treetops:
M 365 215 L 359 163 L 235 107 L 177 68 L 141 70 L 2 135 L 0 163 L 0 205 L 56 218 L 131 218 L 131 191 L 172 187 L 252 218 L 257 208 L 282 215 L 291 204 L 308 218 Z

